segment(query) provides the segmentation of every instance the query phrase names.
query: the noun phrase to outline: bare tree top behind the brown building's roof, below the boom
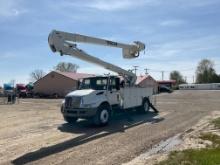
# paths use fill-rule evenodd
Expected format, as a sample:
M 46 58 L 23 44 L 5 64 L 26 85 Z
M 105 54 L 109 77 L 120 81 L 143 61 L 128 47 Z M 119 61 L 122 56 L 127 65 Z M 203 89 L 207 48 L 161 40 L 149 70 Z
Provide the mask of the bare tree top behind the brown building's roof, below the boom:
M 61 72 L 74 72 L 76 73 L 79 66 L 76 64 L 72 64 L 70 62 L 60 62 L 58 63 L 54 69 Z

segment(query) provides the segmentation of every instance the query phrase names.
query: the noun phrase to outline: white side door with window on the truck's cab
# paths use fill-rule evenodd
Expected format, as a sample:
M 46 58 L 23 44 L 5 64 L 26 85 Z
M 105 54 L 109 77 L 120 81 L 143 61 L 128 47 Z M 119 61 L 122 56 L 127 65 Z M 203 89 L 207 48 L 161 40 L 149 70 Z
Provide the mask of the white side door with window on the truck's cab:
M 107 97 L 111 105 L 116 105 L 120 103 L 120 96 L 119 96 L 119 91 L 116 89 L 115 77 L 109 78 Z

